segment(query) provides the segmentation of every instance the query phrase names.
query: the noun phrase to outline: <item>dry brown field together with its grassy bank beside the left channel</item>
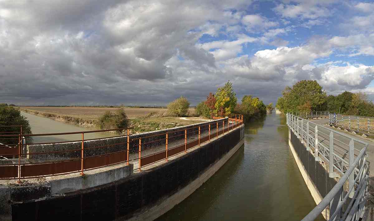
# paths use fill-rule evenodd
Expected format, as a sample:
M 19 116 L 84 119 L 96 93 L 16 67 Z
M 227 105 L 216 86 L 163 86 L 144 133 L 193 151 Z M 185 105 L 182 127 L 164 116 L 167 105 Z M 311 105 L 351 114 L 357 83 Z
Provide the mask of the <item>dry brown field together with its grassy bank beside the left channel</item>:
M 115 112 L 118 108 L 109 107 L 19 107 L 22 111 L 53 120 L 95 127 L 95 122 L 105 111 Z M 184 120 L 180 117 L 167 116 L 166 108 L 132 108 L 124 107 L 130 120 L 131 133 L 154 131 L 176 126 L 201 123 L 201 120 Z M 194 116 L 194 108 L 190 108 L 188 116 Z M 195 119 L 195 118 L 194 118 Z M 196 118 L 201 119 L 201 118 Z

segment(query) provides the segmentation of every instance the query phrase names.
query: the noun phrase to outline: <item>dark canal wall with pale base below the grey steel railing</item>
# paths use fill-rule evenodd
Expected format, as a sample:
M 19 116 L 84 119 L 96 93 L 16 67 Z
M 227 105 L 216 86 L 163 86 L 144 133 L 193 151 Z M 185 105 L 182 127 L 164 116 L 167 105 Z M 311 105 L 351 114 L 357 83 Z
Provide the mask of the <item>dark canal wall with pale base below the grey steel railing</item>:
M 318 205 L 332 187 L 337 184 L 337 180 L 335 178 L 329 178 L 329 173 L 322 163 L 315 160 L 313 153 L 306 150 L 305 145 L 301 143 L 300 139 L 297 138 L 294 132 L 290 129 L 288 131 L 289 148 L 291 149 L 292 155 L 295 158 L 301 175 L 303 176 L 316 205 Z M 328 165 L 325 164 L 325 166 L 328 168 Z M 322 212 L 322 215 L 328 220 L 329 209 L 325 209 Z

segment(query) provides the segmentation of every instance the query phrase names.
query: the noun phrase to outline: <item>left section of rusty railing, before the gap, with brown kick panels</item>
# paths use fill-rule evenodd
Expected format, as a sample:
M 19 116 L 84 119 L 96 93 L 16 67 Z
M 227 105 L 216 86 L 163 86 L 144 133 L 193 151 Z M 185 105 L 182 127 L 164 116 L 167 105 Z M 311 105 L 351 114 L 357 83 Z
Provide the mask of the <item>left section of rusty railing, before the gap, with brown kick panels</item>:
M 4 163 L 4 160 L 1 161 L 0 165 L 0 179 L 18 179 L 18 182 L 21 182 L 21 178 L 38 178 L 45 176 L 54 176 L 69 174 L 73 172 L 80 172 L 84 175 L 84 171 L 97 169 L 105 166 L 116 165 L 119 163 L 127 162 L 128 152 L 129 152 L 129 129 L 132 128 L 120 128 L 120 129 L 108 129 L 108 130 L 97 130 L 97 131 L 82 131 L 82 132 L 67 132 L 67 133 L 41 133 L 41 134 L 22 134 L 23 137 L 35 137 L 35 136 L 56 136 L 56 135 L 72 135 L 72 134 L 81 134 L 82 139 L 79 140 L 70 140 L 62 142 L 49 142 L 49 143 L 28 143 L 24 144 L 21 139 L 21 133 L 19 134 L 0 134 L 1 139 L 16 139 L 18 138 L 18 144 L 13 148 L 8 148 L 12 150 L 5 149 L 5 147 L 0 147 L 0 155 L 7 156 L 9 158 L 18 158 L 18 164 L 9 164 L 7 160 Z M 127 140 L 124 142 L 119 142 L 109 145 L 99 145 L 95 147 L 85 148 L 85 142 L 92 141 L 95 139 L 85 139 L 85 133 L 96 133 L 96 132 L 111 132 L 111 131 L 126 131 L 126 135 L 120 136 L 111 136 L 107 138 L 116 138 L 116 137 L 127 137 Z M 38 153 L 22 153 L 21 150 L 25 145 L 45 145 L 45 144 L 66 144 L 72 142 L 80 142 L 79 148 L 74 148 L 71 150 L 59 150 L 59 151 L 45 151 Z M 101 153 L 101 154 L 91 154 L 93 156 L 85 156 L 87 152 L 96 152 L 100 153 L 99 149 L 110 148 L 115 145 L 125 145 L 126 148 L 123 150 L 110 152 L 110 153 Z M 9 146 L 9 145 L 8 145 Z M 17 153 L 16 153 L 17 152 Z M 68 159 L 62 160 L 49 160 L 46 162 L 22 162 L 21 159 L 31 155 L 48 155 L 53 156 L 54 154 L 60 155 L 76 155 L 76 157 L 67 157 Z M 73 154 L 71 154 L 73 153 Z

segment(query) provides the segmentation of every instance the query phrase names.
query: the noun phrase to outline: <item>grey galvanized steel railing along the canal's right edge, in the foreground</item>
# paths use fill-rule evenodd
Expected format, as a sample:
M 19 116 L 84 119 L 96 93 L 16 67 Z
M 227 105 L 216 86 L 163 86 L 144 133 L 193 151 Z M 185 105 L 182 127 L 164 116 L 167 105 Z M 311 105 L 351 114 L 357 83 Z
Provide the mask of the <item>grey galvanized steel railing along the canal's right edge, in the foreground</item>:
M 329 177 L 341 175 L 338 183 L 303 220 L 315 220 L 324 209 L 330 211 L 328 220 L 361 218 L 368 194 L 368 144 L 290 113 L 287 114 L 287 125 L 314 154 L 316 161 L 328 163 Z M 346 181 L 348 189 L 344 189 Z

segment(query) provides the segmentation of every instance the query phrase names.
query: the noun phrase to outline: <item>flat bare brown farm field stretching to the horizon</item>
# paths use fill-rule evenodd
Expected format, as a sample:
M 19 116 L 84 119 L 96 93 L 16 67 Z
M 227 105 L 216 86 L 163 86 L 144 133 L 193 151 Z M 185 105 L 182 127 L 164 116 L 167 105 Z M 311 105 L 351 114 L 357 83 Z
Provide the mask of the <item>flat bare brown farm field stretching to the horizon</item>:
M 30 107 L 20 106 L 21 110 L 38 111 L 39 113 L 55 114 L 57 116 L 76 117 L 85 120 L 96 120 L 105 111 L 115 112 L 119 108 L 110 107 Z M 130 119 L 147 116 L 152 112 L 166 111 L 166 108 L 135 108 L 124 107 L 127 116 Z

